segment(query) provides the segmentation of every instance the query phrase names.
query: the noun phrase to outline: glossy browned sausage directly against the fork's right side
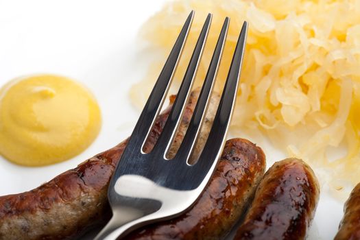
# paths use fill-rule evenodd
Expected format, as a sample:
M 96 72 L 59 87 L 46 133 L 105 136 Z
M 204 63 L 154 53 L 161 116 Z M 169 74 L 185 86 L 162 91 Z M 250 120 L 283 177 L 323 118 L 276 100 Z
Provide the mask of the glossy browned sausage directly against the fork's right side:
M 221 239 L 243 215 L 264 171 L 261 148 L 245 139 L 232 139 L 208 187 L 187 213 L 136 230 L 125 239 Z

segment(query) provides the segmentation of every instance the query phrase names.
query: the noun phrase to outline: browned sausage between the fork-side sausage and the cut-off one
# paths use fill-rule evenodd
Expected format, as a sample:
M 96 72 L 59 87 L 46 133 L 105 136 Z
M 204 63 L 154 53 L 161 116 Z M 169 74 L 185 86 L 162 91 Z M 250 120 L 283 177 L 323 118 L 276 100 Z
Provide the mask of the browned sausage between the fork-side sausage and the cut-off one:
M 317 178 L 302 160 L 275 163 L 261 180 L 235 239 L 304 239 L 319 194 Z

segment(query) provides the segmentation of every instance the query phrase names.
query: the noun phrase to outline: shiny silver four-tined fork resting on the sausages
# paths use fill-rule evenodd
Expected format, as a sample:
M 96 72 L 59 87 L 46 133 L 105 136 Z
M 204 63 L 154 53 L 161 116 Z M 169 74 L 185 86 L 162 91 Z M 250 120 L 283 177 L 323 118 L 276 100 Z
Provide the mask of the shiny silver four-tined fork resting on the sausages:
M 194 204 L 215 170 L 219 155 L 224 147 L 232 110 L 235 106 L 248 29 L 246 22 L 243 23 L 237 41 L 224 91 L 204 149 L 195 164 L 190 165 L 189 159 L 193 153 L 206 108 L 211 99 L 228 32 L 230 21 L 228 17 L 226 17 L 221 28 L 200 96 L 178 152 L 173 159 L 167 159 L 167 152 L 180 125 L 182 112 L 190 95 L 191 86 L 202 56 L 211 25 L 211 14 L 208 14 L 202 27 L 163 131 L 152 152 L 143 152 L 143 145 L 163 106 L 173 73 L 176 71 L 193 15 L 194 12 L 191 11 L 115 168 L 108 187 L 108 201 L 112 208 L 112 219 L 99 232 L 95 238 L 97 240 L 117 239 L 146 224 L 180 215 Z

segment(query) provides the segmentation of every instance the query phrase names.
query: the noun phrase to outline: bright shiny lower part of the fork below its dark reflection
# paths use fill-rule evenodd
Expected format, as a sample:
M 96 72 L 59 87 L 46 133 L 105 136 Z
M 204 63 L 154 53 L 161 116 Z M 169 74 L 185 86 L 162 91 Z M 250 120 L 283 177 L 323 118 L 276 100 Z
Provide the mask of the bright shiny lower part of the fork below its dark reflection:
M 179 215 L 191 207 L 201 189 L 179 191 L 158 186 L 141 176 L 121 176 L 114 195 L 109 197 L 112 218 L 95 240 L 115 240 L 151 222 Z

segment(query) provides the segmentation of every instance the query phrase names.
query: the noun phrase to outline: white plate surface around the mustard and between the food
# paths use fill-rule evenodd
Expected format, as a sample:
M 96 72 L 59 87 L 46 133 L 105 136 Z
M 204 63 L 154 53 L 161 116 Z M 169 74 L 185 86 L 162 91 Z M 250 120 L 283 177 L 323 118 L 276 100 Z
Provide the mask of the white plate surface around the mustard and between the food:
M 149 65 L 140 58 L 136 35 L 164 2 L 0 1 L 0 85 L 34 73 L 66 75 L 91 88 L 103 118 L 96 141 L 64 163 L 29 168 L 0 157 L 0 195 L 38 187 L 130 134 L 139 110 L 132 107 L 128 91 Z M 284 157 L 267 141 L 250 140 L 263 147 L 268 167 Z M 343 204 L 322 189 L 309 239 L 333 239 Z

